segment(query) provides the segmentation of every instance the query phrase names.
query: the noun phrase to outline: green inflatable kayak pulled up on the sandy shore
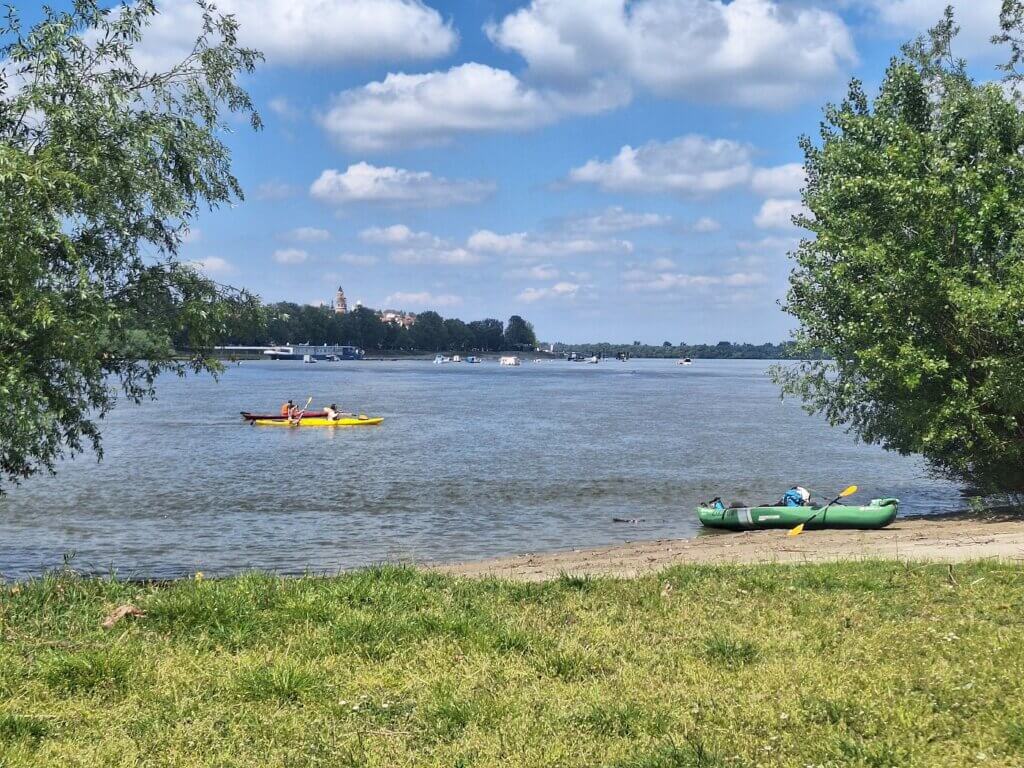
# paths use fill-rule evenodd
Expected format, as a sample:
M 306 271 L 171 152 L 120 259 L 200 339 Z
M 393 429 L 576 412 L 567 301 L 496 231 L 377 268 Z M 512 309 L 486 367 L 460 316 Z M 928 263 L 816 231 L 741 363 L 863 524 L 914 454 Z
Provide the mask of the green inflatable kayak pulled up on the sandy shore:
M 896 519 L 899 499 L 872 499 L 865 507 L 847 507 L 834 504 L 821 507 L 739 507 L 715 509 L 697 507 L 697 517 L 710 528 L 728 530 L 756 530 L 758 528 L 792 528 L 807 523 L 814 528 L 884 528 Z M 811 516 L 817 513 L 810 522 Z

